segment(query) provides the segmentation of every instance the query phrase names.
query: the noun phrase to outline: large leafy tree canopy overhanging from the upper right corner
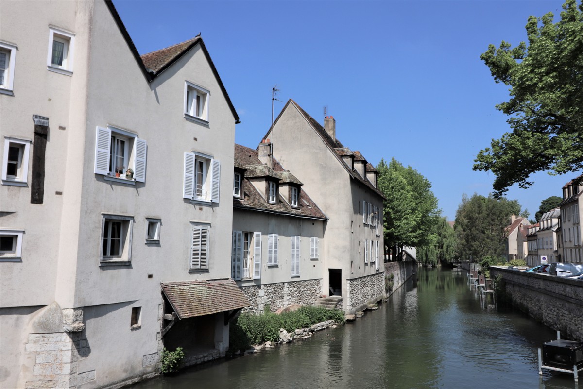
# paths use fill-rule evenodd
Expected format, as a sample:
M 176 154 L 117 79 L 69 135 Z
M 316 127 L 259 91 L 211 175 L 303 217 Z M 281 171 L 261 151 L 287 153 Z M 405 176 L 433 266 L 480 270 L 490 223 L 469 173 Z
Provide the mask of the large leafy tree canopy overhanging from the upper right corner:
M 553 174 L 583 168 L 583 3 L 566 0 L 561 20 L 553 13 L 526 23 L 528 47 L 503 41 L 480 58 L 496 83 L 510 86 L 510 100 L 496 105 L 511 133 L 481 150 L 474 170 L 491 171 L 494 195 L 514 183 L 528 188 L 537 171 Z

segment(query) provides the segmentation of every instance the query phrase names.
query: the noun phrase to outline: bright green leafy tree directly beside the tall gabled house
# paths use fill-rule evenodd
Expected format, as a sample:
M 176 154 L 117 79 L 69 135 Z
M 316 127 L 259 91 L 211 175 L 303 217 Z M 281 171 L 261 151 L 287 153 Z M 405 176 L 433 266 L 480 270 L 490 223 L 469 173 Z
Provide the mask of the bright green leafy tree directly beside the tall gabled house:
M 379 188 L 385 195 L 385 246 L 401 257 L 405 246 L 423 246 L 431 241 L 430 229 L 437 221 L 437 198 L 431 183 L 411 167 L 403 167 L 395 158 L 377 166 Z

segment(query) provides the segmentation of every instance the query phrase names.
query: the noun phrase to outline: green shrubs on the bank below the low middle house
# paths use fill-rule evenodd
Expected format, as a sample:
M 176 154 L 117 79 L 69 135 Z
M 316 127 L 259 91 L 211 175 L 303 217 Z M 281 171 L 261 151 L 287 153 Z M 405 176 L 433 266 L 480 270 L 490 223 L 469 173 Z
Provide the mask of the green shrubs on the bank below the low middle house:
M 243 313 L 237 320 L 231 321 L 229 349 L 231 351 L 244 350 L 254 344 L 277 342 L 280 328 L 292 332 L 297 328 L 308 328 L 326 320 L 334 320 L 342 324 L 346 318 L 341 310 L 313 306 L 303 306 L 294 312 L 281 314 L 268 311 L 259 316 Z

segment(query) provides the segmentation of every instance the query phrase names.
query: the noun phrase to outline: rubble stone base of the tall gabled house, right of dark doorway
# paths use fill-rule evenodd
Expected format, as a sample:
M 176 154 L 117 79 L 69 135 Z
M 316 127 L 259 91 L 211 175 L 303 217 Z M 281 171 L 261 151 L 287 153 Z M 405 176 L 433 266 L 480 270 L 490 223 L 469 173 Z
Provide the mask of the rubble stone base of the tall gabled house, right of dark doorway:
M 384 273 L 346 280 L 346 311 L 354 313 L 380 300 L 384 295 L 384 285 Z

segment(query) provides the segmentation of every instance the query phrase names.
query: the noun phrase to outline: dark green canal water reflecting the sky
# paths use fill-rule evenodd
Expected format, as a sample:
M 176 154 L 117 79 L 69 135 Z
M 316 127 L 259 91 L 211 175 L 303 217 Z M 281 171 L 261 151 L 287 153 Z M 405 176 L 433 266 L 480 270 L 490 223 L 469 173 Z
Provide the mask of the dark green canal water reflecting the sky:
M 466 274 L 419 268 L 354 323 L 132 388 L 577 388 L 539 377 L 537 348 L 556 332 L 480 297 Z

